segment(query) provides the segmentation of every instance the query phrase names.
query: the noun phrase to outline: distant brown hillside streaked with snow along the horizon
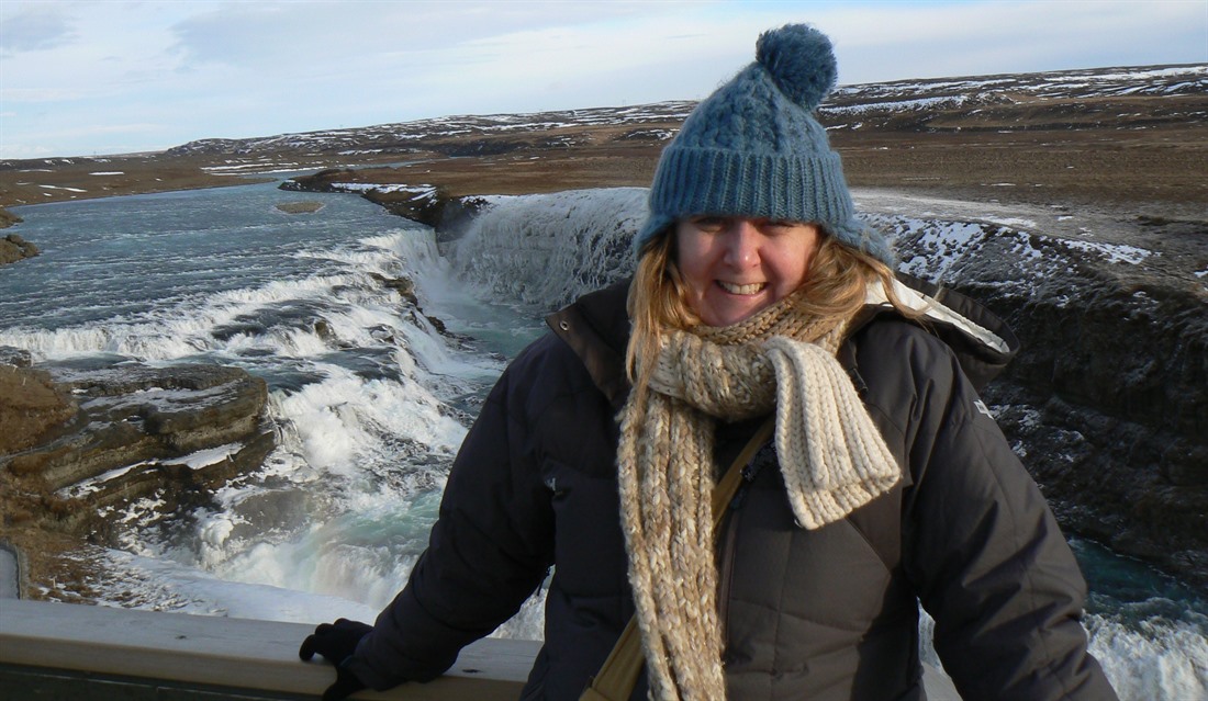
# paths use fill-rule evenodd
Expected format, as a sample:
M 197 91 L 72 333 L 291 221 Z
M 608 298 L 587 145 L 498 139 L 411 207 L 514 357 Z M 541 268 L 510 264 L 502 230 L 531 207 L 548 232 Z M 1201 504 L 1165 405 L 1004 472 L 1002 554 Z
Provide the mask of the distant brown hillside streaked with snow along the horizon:
M 442 117 L 205 139 L 152 154 L 0 160 L 0 206 L 366 167 L 377 169 L 348 177 L 435 183 L 451 194 L 640 186 L 693 105 Z M 855 186 L 1029 201 L 1208 204 L 1201 174 L 1208 64 L 843 86 L 819 117 Z

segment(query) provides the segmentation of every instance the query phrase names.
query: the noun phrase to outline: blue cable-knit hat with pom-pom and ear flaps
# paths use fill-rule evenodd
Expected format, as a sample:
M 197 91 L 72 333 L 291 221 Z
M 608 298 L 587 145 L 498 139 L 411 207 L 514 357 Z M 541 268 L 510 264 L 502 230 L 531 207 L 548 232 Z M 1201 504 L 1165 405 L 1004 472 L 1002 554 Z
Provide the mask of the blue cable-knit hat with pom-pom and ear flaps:
M 788 24 L 759 37 L 755 59 L 697 105 L 663 150 L 634 249 L 681 217 L 742 216 L 821 224 L 893 267 L 884 235 L 855 218 L 838 153 L 813 116 L 838 71 L 830 40 Z

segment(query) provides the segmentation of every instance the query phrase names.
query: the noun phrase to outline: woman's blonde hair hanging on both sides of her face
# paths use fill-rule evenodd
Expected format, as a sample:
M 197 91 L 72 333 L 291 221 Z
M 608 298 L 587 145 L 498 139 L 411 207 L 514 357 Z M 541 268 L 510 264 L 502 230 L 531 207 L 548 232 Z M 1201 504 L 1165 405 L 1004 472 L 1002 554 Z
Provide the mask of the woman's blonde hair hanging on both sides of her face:
M 865 304 L 870 282 L 881 282 L 893 304 L 913 319 L 918 311 L 906 306 L 894 294 L 894 273 L 881 259 L 841 244 L 819 227 L 821 241 L 809 262 L 809 273 L 794 297 L 798 314 L 831 319 L 844 323 Z M 658 355 L 664 329 L 689 329 L 701 319 L 687 303 L 686 286 L 675 263 L 674 224 L 651 239 L 641 250 L 627 309 L 632 331 L 625 354 L 626 373 L 637 398 L 643 399 L 650 384 L 650 370 Z

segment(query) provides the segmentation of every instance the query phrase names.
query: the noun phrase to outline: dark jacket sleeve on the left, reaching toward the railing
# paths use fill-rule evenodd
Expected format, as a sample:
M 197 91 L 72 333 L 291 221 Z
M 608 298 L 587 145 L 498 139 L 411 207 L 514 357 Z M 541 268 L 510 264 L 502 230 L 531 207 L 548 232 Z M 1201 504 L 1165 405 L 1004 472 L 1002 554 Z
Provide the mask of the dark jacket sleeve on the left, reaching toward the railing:
M 428 549 L 406 588 L 344 662 L 388 689 L 443 673 L 460 649 L 518 611 L 552 563 L 553 518 L 529 419 L 530 346 L 504 372 L 458 451 Z

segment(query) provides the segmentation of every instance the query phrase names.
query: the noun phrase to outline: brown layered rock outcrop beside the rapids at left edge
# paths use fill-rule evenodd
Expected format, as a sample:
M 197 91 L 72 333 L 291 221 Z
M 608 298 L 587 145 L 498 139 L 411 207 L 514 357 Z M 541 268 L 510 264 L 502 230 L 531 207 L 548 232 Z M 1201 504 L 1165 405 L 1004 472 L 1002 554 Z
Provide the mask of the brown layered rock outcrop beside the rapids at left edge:
M 121 522 L 104 514 L 139 500 L 162 514 L 208 504 L 274 446 L 266 385 L 238 368 L 5 364 L 0 381 L 35 387 L 16 399 L 0 392 L 2 433 L 30 427 L 0 450 L 0 530 L 36 524 L 110 543 Z

